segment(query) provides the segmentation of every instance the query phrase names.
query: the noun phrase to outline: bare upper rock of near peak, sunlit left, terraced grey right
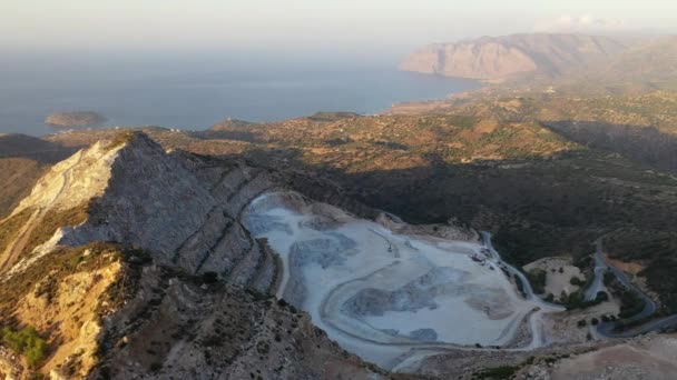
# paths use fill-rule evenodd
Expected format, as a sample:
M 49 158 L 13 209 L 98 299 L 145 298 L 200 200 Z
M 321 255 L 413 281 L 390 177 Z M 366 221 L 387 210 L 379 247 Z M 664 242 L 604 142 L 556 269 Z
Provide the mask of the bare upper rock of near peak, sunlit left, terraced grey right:
M 58 244 L 115 241 L 193 273 L 215 271 L 227 279 L 237 270 L 237 281 L 245 286 L 262 268 L 258 259 L 244 268 L 241 262 L 249 253 L 264 258 L 238 214 L 272 187 L 265 171 L 169 154 L 138 134 L 112 149 L 96 143 L 55 166 L 14 213 L 90 206 L 85 223 L 61 228 L 38 248 L 40 254 Z M 26 266 L 19 262 L 17 270 Z

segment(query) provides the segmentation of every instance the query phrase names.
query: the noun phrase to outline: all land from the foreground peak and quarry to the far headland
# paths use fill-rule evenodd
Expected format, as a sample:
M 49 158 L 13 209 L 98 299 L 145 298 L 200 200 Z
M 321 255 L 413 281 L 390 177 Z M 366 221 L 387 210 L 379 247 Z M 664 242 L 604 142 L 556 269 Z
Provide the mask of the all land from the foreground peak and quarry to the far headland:
M 670 379 L 673 47 L 481 38 L 402 68 L 484 88 L 377 114 L 0 134 L 0 378 Z

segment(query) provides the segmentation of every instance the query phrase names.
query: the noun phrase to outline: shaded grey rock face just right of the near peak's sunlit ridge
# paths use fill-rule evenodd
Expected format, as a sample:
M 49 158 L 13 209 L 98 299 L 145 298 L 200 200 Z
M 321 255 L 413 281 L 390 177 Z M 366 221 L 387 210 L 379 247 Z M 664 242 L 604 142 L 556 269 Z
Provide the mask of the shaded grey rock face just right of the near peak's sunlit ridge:
M 102 240 L 153 247 L 158 258 L 168 262 L 217 206 L 180 160 L 148 138 L 129 142 L 109 171 L 110 181 L 95 206 L 101 216 L 95 211 L 95 218 L 69 233 L 66 242 Z

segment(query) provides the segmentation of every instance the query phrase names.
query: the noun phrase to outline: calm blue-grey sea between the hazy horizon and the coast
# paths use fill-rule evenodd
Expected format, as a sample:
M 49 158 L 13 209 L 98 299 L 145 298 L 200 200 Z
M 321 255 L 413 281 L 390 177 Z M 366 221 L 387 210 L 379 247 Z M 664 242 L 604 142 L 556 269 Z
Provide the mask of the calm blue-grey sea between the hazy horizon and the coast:
M 105 127 L 199 130 L 227 118 L 274 121 L 317 111 L 371 114 L 396 102 L 440 99 L 479 86 L 385 66 L 168 69 L 116 62 L 9 64 L 2 68 L 0 82 L 0 132 L 33 136 L 55 131 L 43 124 L 52 112 L 99 112 L 108 119 Z

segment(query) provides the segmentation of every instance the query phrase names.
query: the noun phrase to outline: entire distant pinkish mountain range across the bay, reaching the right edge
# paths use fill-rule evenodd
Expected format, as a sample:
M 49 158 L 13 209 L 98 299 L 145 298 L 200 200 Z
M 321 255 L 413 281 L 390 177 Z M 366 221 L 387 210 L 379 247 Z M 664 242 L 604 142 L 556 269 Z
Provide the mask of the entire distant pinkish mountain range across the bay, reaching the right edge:
M 676 56 L 670 51 L 675 47 L 674 38 L 617 39 L 549 33 L 482 37 L 424 47 L 406 57 L 400 69 L 485 80 L 559 78 L 581 70 L 605 72 L 609 67 L 647 73 L 674 67 Z M 628 62 L 635 64 L 628 67 Z

